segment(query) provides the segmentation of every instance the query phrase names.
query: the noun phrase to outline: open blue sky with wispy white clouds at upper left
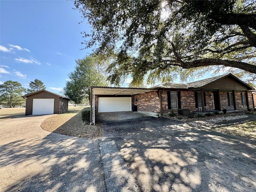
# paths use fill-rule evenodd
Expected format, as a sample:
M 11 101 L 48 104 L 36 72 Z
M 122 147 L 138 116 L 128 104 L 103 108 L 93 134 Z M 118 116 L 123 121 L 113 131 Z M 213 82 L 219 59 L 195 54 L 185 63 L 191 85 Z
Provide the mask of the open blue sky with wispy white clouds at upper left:
M 90 32 L 81 13 L 66 0 L 0 0 L 0 83 L 18 81 L 28 88 L 36 78 L 60 92 L 84 48 L 80 32 Z

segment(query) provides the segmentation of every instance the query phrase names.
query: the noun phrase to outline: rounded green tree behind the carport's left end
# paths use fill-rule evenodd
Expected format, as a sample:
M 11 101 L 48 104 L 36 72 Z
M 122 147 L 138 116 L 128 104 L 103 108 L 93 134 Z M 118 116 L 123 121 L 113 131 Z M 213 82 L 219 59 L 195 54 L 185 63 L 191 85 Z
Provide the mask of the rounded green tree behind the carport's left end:
M 107 86 L 106 78 L 98 71 L 96 58 L 87 56 L 76 60 L 76 67 L 69 75 L 64 94 L 76 104 L 80 104 L 90 95 L 90 86 Z

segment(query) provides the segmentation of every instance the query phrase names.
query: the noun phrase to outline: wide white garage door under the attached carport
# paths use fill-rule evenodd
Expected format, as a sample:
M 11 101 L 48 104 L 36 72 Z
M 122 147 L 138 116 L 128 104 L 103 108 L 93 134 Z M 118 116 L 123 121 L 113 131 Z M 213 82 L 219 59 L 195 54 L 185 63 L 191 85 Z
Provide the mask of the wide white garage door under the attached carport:
M 98 112 L 131 111 L 131 97 L 99 97 Z

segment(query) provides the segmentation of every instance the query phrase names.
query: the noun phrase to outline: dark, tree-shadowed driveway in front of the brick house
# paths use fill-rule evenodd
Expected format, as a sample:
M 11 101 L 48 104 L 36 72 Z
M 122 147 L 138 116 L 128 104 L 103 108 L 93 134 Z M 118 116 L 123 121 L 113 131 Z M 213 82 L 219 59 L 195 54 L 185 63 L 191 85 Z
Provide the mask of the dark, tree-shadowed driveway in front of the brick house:
M 144 192 L 255 192 L 256 142 L 166 119 L 104 127 Z

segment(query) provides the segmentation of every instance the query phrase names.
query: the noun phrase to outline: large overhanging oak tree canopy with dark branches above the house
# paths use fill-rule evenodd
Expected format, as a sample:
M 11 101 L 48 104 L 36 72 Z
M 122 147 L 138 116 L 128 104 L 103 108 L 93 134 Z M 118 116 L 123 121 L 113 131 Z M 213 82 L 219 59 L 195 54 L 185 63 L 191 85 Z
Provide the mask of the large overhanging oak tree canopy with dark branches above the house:
M 254 0 L 75 0 L 92 27 L 86 48 L 111 57 L 111 83 L 186 80 L 223 66 L 256 74 Z

